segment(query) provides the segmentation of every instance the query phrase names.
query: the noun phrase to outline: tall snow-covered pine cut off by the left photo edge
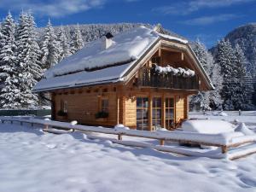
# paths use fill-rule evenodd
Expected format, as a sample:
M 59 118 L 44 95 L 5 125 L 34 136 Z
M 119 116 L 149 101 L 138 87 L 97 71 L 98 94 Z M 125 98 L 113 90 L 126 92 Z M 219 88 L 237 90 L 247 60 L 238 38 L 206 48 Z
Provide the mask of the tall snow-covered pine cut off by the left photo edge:
M 20 108 L 16 62 L 15 20 L 9 13 L 0 28 L 0 106 Z

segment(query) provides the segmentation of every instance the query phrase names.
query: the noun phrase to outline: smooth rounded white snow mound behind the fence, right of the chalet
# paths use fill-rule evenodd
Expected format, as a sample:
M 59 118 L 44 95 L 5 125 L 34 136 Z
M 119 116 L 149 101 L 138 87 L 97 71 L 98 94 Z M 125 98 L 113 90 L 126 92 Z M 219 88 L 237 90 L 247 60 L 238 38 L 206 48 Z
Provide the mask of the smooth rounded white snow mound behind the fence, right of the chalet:
M 187 120 L 183 122 L 183 131 L 205 134 L 234 132 L 233 125 L 224 120 Z

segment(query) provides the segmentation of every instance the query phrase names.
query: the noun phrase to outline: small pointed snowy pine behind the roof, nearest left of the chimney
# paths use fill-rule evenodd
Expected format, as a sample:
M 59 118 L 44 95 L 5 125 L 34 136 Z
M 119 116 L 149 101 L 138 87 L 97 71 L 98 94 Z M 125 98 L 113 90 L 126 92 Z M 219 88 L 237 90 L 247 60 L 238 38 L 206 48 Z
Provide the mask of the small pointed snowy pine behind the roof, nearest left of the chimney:
M 84 47 L 84 40 L 80 31 L 79 24 L 73 32 L 71 47 L 71 51 L 73 54 Z

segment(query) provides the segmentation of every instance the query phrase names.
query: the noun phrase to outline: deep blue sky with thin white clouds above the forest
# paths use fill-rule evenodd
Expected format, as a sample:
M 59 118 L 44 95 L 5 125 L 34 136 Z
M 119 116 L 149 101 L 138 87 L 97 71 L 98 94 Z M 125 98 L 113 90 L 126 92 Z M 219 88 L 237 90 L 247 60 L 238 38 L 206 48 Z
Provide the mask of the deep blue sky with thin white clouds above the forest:
M 0 18 L 30 9 L 38 26 L 50 19 L 67 24 L 160 23 L 211 48 L 237 26 L 256 22 L 256 0 L 0 0 Z

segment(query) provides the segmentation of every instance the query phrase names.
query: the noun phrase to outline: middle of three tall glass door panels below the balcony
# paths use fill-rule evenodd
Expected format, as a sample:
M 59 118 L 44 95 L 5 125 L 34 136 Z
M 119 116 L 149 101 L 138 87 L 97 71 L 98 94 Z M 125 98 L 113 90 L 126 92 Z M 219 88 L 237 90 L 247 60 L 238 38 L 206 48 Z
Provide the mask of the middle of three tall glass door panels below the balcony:
M 162 101 L 161 98 L 153 98 L 152 100 L 152 125 L 153 127 L 161 126 L 161 116 L 162 116 L 162 111 L 161 111 L 161 106 L 162 106 Z

